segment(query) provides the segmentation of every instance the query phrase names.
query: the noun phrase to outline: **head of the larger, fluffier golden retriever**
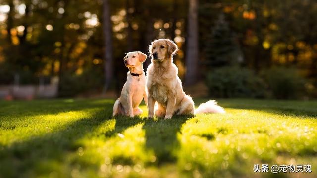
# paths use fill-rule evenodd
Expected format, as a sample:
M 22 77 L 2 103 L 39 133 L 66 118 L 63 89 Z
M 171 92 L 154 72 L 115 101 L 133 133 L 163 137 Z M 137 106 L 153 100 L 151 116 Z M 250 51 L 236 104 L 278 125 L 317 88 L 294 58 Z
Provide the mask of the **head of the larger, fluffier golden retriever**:
M 169 39 L 155 40 L 149 46 L 150 56 L 154 61 L 159 62 L 171 58 L 177 51 L 177 45 Z

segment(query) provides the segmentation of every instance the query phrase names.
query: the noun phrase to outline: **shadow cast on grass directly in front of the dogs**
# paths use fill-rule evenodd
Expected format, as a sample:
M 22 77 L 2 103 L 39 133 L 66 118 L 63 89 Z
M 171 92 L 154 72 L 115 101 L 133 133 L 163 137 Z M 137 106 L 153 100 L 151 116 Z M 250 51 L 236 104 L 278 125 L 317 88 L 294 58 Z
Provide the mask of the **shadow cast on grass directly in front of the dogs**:
M 143 124 L 145 130 L 146 149 L 153 150 L 156 156 L 155 164 L 176 161 L 176 152 L 179 148 L 177 133 L 180 132 L 182 125 L 192 116 L 174 116 L 172 119 L 164 120 L 162 118 L 147 119 L 138 116 L 130 118 L 127 116 L 116 116 L 115 128 L 106 132 L 107 137 L 117 136 L 129 127 L 137 124 Z M 127 160 L 115 159 L 114 163 L 130 163 Z

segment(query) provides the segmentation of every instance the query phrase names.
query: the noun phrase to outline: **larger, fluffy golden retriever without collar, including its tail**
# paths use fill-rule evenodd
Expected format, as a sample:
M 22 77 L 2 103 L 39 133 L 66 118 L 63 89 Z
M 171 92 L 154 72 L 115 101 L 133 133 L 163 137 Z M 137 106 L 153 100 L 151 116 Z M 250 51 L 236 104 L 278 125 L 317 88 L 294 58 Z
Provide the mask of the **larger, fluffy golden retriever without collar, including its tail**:
M 169 39 L 159 39 L 151 43 L 149 52 L 151 64 L 147 69 L 149 118 L 170 119 L 176 115 L 198 113 L 224 113 L 215 100 L 201 104 L 196 110 L 193 99 L 183 91 L 178 77 L 178 68 L 173 63 L 177 45 Z M 190 67 L 190 66 L 188 66 Z

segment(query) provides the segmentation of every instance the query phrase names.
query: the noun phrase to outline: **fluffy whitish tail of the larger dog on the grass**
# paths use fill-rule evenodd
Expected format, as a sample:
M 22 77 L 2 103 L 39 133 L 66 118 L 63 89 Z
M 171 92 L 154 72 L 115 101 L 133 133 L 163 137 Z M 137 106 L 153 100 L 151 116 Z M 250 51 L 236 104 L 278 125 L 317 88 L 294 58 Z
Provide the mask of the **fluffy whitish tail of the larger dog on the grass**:
M 204 114 L 204 113 L 225 113 L 224 109 L 221 106 L 218 106 L 216 100 L 209 100 L 205 103 L 202 103 L 195 109 L 195 114 Z

